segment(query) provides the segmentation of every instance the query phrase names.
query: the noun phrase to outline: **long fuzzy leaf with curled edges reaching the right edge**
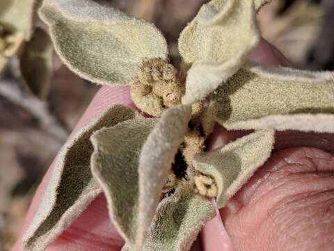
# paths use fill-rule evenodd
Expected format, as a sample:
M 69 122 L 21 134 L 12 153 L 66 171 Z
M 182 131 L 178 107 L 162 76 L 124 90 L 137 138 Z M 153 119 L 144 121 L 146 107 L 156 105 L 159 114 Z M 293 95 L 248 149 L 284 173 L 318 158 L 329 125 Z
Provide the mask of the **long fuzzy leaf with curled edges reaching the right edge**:
M 334 132 L 334 74 L 248 66 L 212 95 L 225 128 Z

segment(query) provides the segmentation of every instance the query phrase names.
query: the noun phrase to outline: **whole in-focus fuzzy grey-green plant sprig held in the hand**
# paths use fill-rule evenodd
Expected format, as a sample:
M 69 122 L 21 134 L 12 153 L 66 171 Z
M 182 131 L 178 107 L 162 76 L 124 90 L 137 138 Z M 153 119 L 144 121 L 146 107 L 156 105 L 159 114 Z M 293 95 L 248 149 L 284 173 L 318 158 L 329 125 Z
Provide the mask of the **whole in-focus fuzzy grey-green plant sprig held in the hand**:
M 269 158 L 276 131 L 334 132 L 333 73 L 248 61 L 264 3 L 203 5 L 181 33 L 177 73 L 153 24 L 93 0 L 44 1 L 63 62 L 91 82 L 131 86 L 138 110 L 110 107 L 63 146 L 26 250 L 47 248 L 100 192 L 123 250 L 189 250 L 214 217 L 211 200 L 225 206 Z M 253 132 L 209 151 L 215 123 Z

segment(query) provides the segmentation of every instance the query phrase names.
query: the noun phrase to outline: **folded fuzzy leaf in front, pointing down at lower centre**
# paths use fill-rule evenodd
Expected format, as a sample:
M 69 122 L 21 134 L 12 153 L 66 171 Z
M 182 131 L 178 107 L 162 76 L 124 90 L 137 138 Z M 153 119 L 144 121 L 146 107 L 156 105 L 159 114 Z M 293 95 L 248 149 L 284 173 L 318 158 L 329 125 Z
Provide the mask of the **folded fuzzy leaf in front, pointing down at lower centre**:
M 177 106 L 159 119 L 137 119 L 92 137 L 93 176 L 106 194 L 109 215 L 127 246 L 150 227 L 168 170 L 183 142 L 191 108 Z M 170 121 L 175 120 L 175 123 Z

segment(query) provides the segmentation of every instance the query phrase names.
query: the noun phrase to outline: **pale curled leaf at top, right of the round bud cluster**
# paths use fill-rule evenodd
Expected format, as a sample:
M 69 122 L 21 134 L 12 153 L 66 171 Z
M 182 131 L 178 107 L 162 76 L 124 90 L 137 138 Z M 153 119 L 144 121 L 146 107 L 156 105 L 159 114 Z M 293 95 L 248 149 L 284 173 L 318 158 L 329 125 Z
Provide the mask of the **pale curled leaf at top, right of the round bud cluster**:
M 182 31 L 180 54 L 186 65 L 192 65 L 186 77 L 184 104 L 205 99 L 245 63 L 260 41 L 256 13 L 263 2 L 210 1 Z

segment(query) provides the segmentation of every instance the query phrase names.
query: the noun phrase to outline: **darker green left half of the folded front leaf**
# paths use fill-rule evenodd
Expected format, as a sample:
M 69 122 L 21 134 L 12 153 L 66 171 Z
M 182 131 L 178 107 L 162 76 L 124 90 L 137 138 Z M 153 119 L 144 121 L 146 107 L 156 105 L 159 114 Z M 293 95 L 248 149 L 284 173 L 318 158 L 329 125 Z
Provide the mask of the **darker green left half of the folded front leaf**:
M 125 121 L 91 137 L 95 148 L 91 160 L 93 176 L 104 190 L 113 224 L 129 246 L 134 245 L 138 228 L 139 155 L 156 122 Z

